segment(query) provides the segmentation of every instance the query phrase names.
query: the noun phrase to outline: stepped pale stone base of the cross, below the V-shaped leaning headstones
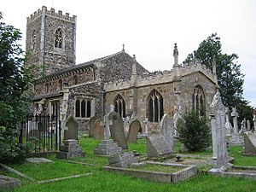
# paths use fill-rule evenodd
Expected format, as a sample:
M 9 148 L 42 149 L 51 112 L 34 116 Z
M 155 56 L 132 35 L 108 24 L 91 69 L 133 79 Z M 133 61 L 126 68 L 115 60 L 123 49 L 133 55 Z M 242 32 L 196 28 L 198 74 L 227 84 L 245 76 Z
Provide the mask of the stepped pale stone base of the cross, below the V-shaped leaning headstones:
M 122 148 L 117 143 L 114 143 L 112 139 L 102 140 L 102 143 L 94 150 L 94 154 L 102 156 L 112 156 L 120 153 L 122 153 Z

